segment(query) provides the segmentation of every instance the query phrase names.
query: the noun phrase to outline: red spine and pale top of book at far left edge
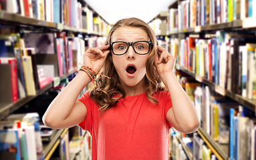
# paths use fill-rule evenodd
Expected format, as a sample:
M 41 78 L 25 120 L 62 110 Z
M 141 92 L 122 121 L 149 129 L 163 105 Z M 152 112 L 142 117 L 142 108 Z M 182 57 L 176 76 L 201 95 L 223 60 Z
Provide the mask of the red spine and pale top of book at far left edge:
M 11 67 L 11 94 L 12 101 L 18 100 L 18 79 L 17 79 L 17 62 L 15 58 L 1 58 L 0 64 L 9 64 Z

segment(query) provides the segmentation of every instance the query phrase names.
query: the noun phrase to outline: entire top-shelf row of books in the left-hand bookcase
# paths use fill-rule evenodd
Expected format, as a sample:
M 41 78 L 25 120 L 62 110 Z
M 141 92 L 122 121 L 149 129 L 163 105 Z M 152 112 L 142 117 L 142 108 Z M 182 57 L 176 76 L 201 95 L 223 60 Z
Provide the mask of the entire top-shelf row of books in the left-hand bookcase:
M 110 25 L 78 0 L 3 0 L 0 10 L 106 35 Z

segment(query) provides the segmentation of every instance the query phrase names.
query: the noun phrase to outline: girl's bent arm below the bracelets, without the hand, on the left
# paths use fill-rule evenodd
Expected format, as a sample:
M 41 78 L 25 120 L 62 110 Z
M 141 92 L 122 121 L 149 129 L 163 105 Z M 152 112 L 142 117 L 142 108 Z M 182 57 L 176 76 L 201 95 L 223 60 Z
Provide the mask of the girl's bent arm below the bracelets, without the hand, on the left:
M 86 106 L 76 102 L 76 99 L 90 81 L 90 77 L 84 71 L 80 71 L 53 99 L 43 115 L 43 123 L 53 129 L 63 129 L 82 122 L 86 118 Z

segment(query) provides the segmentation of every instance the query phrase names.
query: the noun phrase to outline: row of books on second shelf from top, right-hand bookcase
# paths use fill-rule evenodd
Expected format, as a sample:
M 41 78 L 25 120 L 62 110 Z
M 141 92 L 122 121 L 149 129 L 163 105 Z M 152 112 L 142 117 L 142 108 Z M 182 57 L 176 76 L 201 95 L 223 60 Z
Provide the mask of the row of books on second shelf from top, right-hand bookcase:
M 170 39 L 170 53 L 180 67 L 223 89 L 255 99 L 255 36 L 229 31 L 217 31 L 216 35 L 209 39 Z

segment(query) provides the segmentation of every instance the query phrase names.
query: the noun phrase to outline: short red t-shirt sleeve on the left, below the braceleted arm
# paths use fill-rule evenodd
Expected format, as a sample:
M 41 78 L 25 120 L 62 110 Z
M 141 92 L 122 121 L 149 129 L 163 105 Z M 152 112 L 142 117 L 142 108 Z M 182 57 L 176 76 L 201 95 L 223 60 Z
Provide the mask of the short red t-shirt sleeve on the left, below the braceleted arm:
M 93 124 L 93 113 L 92 113 L 92 99 L 90 98 L 90 93 L 85 93 L 84 95 L 82 95 L 79 99 L 77 99 L 76 101 L 80 101 L 82 102 L 85 106 L 86 106 L 86 119 L 84 119 L 84 121 L 82 121 L 81 123 L 79 123 L 78 125 L 86 130 L 89 131 L 91 133 L 92 131 L 92 124 Z

